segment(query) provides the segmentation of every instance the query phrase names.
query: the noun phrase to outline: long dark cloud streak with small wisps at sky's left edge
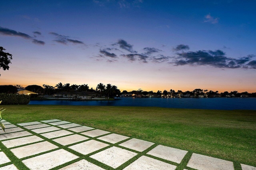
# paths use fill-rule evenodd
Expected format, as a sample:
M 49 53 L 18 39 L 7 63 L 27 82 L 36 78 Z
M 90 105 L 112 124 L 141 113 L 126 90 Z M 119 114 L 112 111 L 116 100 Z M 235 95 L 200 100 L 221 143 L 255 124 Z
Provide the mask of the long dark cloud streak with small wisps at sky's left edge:
M 33 33 L 41 35 L 40 32 L 33 32 Z M 38 45 L 44 45 L 45 44 L 45 42 L 43 42 L 43 41 L 33 39 L 28 34 L 25 34 L 25 33 L 22 33 L 22 32 L 17 32 L 15 30 L 11 30 L 9 28 L 0 27 L 0 34 L 2 34 L 4 36 L 16 36 L 16 37 L 21 37 L 21 38 L 24 38 L 24 39 L 29 39 L 29 40 L 32 40 L 33 43 L 38 44 Z

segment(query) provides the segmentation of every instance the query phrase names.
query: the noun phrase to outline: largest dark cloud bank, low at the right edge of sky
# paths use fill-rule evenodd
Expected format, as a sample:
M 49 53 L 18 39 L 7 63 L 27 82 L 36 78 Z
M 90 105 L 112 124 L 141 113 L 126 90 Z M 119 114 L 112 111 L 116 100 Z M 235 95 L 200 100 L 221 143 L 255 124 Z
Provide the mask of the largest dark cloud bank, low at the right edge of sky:
M 240 59 L 234 59 L 226 57 L 225 53 L 221 50 L 199 50 L 199 51 L 190 51 L 178 53 L 178 56 L 174 61 L 175 65 L 210 65 L 217 68 L 244 68 L 246 62 L 250 61 L 255 55 L 248 55 L 247 57 L 242 57 Z M 247 67 L 254 68 L 254 62 L 250 61 L 247 64 Z

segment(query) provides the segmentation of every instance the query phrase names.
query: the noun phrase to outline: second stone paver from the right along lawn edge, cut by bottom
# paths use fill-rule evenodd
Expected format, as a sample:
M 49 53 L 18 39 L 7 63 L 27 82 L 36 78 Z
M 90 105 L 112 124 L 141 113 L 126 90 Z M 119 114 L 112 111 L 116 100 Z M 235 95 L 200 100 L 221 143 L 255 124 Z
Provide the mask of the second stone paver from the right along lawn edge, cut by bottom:
M 197 170 L 234 170 L 233 162 L 195 153 L 187 166 Z

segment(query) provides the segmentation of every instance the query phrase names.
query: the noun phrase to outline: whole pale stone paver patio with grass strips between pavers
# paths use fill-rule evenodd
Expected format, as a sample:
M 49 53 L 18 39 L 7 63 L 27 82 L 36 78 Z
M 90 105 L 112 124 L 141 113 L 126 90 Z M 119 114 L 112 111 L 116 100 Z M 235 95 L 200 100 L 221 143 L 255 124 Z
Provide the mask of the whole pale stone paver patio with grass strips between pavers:
M 68 121 L 4 124 L 0 170 L 234 170 L 227 160 Z M 256 170 L 240 165 L 242 170 Z

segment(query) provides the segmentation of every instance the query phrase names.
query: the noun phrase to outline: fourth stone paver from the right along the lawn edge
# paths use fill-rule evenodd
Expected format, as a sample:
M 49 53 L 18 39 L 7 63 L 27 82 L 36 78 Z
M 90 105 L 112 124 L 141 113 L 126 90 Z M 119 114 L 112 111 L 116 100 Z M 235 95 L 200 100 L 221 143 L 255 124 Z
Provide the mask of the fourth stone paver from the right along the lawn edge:
M 152 146 L 154 143 L 153 142 L 148 142 L 145 140 L 140 140 L 136 138 L 132 138 L 130 140 L 127 140 L 126 142 L 123 142 L 119 144 L 120 146 L 124 146 L 126 148 L 132 149 L 132 150 L 137 150 L 139 152 L 142 152 Z

